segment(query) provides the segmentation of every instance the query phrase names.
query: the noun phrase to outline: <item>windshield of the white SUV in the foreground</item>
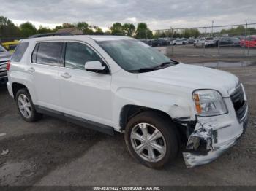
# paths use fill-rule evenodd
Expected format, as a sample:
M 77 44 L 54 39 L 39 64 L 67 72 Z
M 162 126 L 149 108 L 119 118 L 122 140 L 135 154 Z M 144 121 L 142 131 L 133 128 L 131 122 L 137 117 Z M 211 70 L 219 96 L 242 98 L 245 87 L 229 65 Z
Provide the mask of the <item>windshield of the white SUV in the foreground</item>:
M 154 68 L 162 63 L 170 63 L 158 50 L 137 40 L 111 40 L 98 42 L 103 50 L 126 71 Z M 175 63 L 170 63 L 171 66 Z

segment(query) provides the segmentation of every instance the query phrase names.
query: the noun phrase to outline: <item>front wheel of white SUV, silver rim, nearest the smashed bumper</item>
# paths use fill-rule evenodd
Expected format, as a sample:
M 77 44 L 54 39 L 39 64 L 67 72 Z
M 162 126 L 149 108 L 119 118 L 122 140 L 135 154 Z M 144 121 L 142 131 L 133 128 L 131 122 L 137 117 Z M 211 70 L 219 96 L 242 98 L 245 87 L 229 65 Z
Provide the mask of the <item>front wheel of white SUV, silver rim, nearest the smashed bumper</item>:
M 148 141 L 144 141 L 143 143 L 143 141 L 139 141 L 139 139 L 144 139 L 141 129 L 146 129 L 146 131 L 149 133 L 149 136 L 147 136 L 149 138 L 154 132 L 157 132 L 154 130 L 159 130 L 157 133 L 159 138 L 155 139 L 154 141 L 150 141 L 147 138 Z M 177 133 L 178 132 L 176 131 L 176 126 L 174 123 L 166 117 L 163 117 L 157 112 L 142 112 L 129 120 L 125 129 L 124 138 L 129 153 L 132 155 L 132 157 L 149 168 L 159 169 L 168 163 L 173 162 L 173 160 L 176 158 L 178 154 L 179 142 Z M 138 135 L 140 135 L 139 139 Z M 141 147 L 141 145 L 143 145 L 143 147 Z M 154 145 L 154 148 L 151 145 Z M 156 145 L 157 149 L 155 149 Z M 159 149 L 159 146 L 160 148 L 164 149 Z M 140 155 L 135 151 L 135 147 L 140 148 Z M 160 150 L 161 152 L 159 152 Z M 153 155 L 151 156 L 154 157 L 149 157 L 148 154 L 152 152 Z

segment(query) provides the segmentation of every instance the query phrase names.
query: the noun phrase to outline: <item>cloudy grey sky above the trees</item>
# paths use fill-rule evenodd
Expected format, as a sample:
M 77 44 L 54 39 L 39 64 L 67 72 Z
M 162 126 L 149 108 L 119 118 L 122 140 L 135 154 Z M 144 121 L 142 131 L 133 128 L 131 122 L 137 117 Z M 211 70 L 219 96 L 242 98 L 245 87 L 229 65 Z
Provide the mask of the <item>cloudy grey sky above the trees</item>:
M 0 15 L 19 25 L 54 28 L 85 21 L 107 30 L 140 22 L 151 30 L 256 23 L 255 0 L 0 0 Z

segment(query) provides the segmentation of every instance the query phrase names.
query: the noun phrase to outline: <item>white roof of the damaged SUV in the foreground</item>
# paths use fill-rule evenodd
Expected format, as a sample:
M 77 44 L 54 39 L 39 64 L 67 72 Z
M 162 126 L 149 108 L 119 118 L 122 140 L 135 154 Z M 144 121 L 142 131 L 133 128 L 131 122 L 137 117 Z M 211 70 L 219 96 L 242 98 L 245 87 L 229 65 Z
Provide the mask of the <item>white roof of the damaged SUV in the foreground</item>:
M 128 36 L 111 36 L 111 35 L 73 35 L 73 36 L 48 36 L 41 38 L 31 38 L 24 39 L 23 42 L 31 41 L 47 41 L 47 40 L 83 40 L 83 39 L 93 39 L 96 42 L 110 41 L 110 40 L 127 40 L 133 39 Z

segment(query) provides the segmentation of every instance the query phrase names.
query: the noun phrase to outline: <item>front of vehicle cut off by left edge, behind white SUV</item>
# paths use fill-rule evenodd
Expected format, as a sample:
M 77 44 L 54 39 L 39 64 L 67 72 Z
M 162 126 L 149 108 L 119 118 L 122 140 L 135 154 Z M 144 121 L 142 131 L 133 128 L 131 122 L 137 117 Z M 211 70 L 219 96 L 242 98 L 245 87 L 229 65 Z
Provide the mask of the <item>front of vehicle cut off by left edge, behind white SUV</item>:
M 0 83 L 7 82 L 7 63 L 11 54 L 0 45 Z

